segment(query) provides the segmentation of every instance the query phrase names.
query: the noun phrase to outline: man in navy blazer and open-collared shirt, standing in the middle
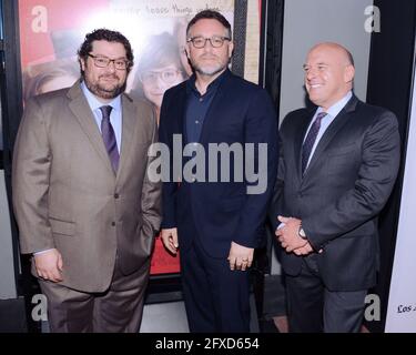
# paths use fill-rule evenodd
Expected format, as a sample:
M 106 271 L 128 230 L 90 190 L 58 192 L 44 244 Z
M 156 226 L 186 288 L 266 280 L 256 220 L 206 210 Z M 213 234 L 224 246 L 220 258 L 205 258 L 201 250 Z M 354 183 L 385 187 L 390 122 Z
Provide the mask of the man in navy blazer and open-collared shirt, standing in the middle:
M 166 91 L 161 109 L 160 140 L 171 152 L 161 236 L 172 253 L 181 247 L 190 331 L 248 332 L 247 270 L 277 171 L 276 115 L 265 90 L 229 71 L 233 42 L 222 14 L 197 13 L 186 37 L 194 75 Z

